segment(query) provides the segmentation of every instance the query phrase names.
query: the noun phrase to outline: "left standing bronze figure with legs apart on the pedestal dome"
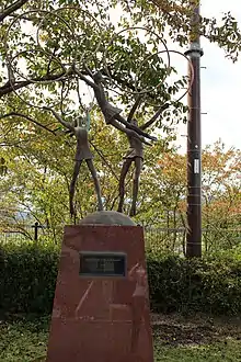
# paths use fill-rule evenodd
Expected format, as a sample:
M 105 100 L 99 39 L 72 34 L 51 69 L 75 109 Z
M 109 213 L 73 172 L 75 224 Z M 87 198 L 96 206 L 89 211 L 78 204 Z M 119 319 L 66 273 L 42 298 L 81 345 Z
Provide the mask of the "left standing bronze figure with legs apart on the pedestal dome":
M 51 111 L 54 116 L 66 128 L 70 131 L 71 134 L 76 136 L 77 139 L 77 149 L 76 149 L 76 163 L 73 168 L 73 174 L 72 180 L 70 182 L 69 188 L 69 206 L 70 206 L 70 215 L 71 217 L 76 217 L 76 210 L 73 206 L 73 196 L 74 196 L 74 190 L 76 190 L 76 182 L 80 172 L 80 167 L 83 160 L 85 160 L 87 166 L 91 172 L 92 179 L 94 181 L 94 188 L 97 195 L 97 210 L 103 211 L 103 204 L 102 204 L 102 196 L 101 196 L 101 188 L 97 180 L 97 174 L 93 165 L 93 155 L 91 152 L 89 142 L 88 142 L 88 129 L 83 126 L 83 118 L 78 117 L 74 122 L 74 124 L 70 124 L 69 122 L 66 122 L 62 120 L 62 117 L 55 112 L 53 109 L 45 106 L 45 110 Z

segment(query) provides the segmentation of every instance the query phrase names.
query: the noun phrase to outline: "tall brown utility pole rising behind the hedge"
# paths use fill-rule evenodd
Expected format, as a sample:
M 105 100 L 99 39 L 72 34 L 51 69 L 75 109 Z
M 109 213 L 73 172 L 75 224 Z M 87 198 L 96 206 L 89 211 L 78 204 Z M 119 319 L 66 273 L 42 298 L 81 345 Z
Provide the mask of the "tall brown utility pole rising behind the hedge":
M 196 3 L 196 1 L 195 1 Z M 191 20 L 191 45 L 185 53 L 190 57 L 188 73 L 193 68 L 194 80 L 187 95 L 187 233 L 186 257 L 202 257 L 202 139 L 200 139 L 200 57 L 199 3 L 194 4 Z M 190 77 L 191 79 L 191 77 Z

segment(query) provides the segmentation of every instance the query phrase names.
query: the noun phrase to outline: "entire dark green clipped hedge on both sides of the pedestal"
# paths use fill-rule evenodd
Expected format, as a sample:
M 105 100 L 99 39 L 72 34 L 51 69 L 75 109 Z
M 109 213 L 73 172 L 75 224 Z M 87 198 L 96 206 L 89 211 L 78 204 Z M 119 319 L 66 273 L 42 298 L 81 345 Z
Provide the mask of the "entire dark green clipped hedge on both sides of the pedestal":
M 0 309 L 51 312 L 59 250 L 10 246 L 0 254 Z M 147 253 L 151 308 L 161 313 L 241 314 L 241 259 L 218 256 L 186 260 Z

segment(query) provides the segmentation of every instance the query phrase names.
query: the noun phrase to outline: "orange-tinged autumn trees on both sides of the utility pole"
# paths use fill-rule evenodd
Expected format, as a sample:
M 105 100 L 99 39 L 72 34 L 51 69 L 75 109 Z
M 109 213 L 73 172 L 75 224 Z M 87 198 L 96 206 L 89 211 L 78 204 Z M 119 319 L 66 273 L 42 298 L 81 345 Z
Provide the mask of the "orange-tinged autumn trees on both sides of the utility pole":
M 227 149 L 221 140 L 203 150 L 203 248 L 208 253 L 231 249 L 240 242 L 240 150 Z M 179 238 L 179 229 L 181 233 L 186 228 L 185 168 L 186 157 L 171 150 L 162 155 L 151 172 L 147 170 L 141 197 L 151 193 L 151 200 L 145 200 L 138 218 L 160 228 L 163 246 L 171 250 L 183 248 L 184 253 L 184 238 Z M 156 235 L 156 244 L 157 238 L 160 240 L 160 236 Z

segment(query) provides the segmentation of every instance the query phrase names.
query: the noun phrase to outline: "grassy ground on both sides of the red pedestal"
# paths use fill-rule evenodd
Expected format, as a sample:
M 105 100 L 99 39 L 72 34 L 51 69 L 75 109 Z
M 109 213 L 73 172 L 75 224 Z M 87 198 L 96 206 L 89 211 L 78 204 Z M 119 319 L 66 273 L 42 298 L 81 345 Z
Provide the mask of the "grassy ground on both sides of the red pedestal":
M 45 361 L 49 318 L 0 321 L 0 361 Z M 152 315 L 156 362 L 241 362 L 241 319 Z

